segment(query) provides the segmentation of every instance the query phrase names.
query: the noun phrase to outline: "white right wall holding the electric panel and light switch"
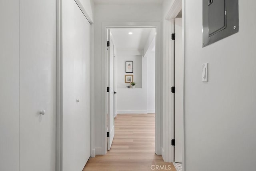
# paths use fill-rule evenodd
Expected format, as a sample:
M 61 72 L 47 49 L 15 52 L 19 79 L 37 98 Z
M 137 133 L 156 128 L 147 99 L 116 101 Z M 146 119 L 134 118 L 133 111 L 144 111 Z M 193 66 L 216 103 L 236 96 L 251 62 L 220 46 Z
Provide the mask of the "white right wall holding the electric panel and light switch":
M 255 6 L 240 0 L 239 32 L 202 48 L 202 0 L 186 0 L 186 171 L 256 168 Z M 206 62 L 209 82 L 203 83 Z

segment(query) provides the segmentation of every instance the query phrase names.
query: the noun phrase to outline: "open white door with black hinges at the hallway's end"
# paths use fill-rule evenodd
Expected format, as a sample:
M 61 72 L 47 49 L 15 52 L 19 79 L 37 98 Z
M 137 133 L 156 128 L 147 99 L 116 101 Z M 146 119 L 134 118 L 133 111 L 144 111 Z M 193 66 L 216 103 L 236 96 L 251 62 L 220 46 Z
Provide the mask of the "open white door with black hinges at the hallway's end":
M 107 92 L 107 149 L 110 150 L 112 141 L 114 139 L 115 127 L 114 127 L 114 42 L 110 30 L 108 30 L 108 42 L 107 48 L 107 61 L 108 61 L 108 76 L 107 85 L 109 92 Z

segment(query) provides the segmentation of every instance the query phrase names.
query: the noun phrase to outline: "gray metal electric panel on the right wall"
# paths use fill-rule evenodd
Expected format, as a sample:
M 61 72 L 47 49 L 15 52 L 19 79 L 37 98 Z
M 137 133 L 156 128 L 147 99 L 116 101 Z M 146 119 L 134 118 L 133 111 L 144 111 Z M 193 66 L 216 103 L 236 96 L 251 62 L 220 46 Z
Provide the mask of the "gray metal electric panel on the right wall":
M 238 0 L 203 0 L 202 47 L 239 30 Z

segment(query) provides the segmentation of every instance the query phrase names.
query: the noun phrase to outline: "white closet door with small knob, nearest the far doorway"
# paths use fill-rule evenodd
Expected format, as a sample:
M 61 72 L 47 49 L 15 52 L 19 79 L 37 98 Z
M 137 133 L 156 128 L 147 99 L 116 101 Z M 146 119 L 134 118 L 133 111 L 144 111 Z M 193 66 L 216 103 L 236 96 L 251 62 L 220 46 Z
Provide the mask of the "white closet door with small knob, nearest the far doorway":
M 62 2 L 62 170 L 90 157 L 91 26 L 74 0 Z

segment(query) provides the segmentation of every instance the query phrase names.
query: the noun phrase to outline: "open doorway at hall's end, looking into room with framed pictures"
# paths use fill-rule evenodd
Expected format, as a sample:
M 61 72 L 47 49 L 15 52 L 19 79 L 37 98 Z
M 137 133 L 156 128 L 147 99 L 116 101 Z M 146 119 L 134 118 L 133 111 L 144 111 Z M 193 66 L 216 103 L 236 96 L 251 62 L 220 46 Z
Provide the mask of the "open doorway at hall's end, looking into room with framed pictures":
M 107 40 L 107 149 L 114 137 L 119 147 L 131 142 L 131 148 L 135 141 L 154 149 L 156 28 L 110 28 Z

